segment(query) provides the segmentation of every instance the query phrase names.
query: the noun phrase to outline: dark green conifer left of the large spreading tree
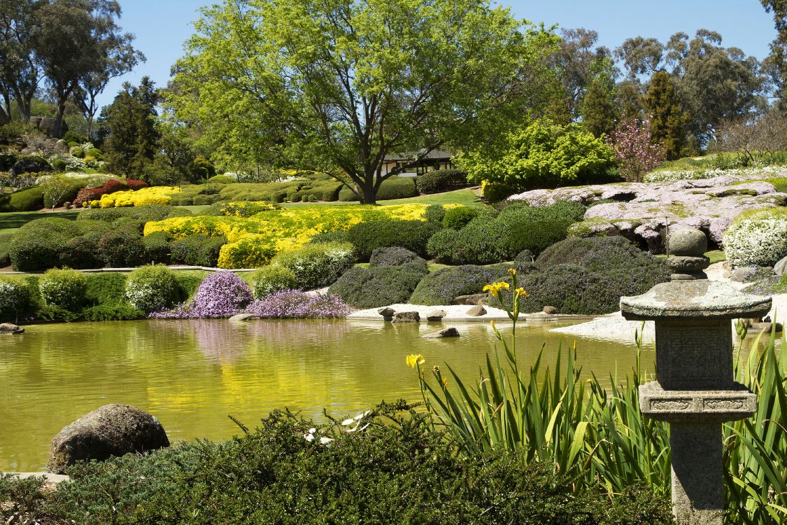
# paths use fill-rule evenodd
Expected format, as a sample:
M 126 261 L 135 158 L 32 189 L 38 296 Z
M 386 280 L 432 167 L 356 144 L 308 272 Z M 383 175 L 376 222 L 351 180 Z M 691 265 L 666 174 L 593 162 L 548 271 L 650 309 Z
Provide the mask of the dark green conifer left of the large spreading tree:
M 158 93 L 149 77 L 139 87 L 124 83 L 111 105 L 102 112 L 102 126 L 109 129 L 105 157 L 115 173 L 142 177 L 153 163 L 161 135 L 156 128 Z

